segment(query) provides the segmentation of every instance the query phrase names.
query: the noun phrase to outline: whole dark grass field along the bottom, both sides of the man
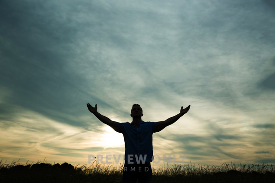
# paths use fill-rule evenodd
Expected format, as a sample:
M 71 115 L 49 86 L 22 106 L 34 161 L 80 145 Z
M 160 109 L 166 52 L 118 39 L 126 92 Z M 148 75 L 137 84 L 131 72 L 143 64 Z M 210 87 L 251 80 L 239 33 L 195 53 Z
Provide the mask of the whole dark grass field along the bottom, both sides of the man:
M 49 164 L 18 162 L 5 164 L 0 161 L 0 183 L 121 183 L 123 165 Z M 153 183 L 274 183 L 273 165 L 235 165 L 224 163 L 221 166 L 172 165 L 153 168 Z

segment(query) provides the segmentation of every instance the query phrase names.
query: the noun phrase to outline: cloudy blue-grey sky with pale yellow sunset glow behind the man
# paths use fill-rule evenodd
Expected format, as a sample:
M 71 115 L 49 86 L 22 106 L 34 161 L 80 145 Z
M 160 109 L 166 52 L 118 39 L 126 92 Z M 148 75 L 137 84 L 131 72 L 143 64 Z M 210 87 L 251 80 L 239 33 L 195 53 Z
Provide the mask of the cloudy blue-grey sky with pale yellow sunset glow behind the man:
M 273 0 L 0 0 L 0 159 L 124 154 L 116 122 L 185 163 L 275 164 Z M 122 160 L 122 159 L 121 159 Z

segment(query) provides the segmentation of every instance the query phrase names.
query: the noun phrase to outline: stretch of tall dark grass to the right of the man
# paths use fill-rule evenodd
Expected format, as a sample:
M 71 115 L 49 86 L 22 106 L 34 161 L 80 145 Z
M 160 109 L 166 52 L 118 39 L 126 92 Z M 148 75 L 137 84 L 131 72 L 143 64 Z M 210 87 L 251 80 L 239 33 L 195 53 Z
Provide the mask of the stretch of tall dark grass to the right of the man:
M 274 183 L 273 165 L 235 165 L 223 163 L 221 166 L 166 165 L 153 169 L 153 180 L 158 183 Z

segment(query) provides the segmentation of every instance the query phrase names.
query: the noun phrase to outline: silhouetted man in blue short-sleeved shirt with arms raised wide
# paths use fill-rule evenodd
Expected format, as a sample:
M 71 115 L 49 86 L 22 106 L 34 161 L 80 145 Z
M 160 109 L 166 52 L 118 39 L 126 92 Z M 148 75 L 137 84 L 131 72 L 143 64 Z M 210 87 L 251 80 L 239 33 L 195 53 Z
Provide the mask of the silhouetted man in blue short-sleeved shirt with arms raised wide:
M 97 104 L 87 107 L 98 120 L 111 126 L 116 132 L 122 133 L 125 142 L 125 164 L 123 168 L 123 183 L 152 183 L 153 161 L 153 133 L 161 131 L 166 126 L 176 122 L 181 116 L 188 112 L 190 105 L 181 107 L 180 112 L 162 122 L 144 122 L 141 120 L 143 111 L 140 105 L 134 104 L 131 109 L 133 121 L 114 122 L 97 112 Z

